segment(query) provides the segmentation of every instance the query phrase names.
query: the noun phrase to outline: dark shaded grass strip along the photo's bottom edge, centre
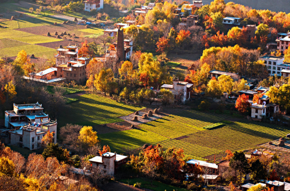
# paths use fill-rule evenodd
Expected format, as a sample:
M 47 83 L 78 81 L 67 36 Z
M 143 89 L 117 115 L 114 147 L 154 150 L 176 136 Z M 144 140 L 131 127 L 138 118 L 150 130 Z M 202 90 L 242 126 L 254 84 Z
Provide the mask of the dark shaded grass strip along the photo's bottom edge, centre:
M 153 186 L 151 186 L 151 180 L 146 178 L 121 179 L 120 181 L 131 185 L 134 185 L 135 183 L 139 182 L 141 183 L 141 188 L 147 188 L 155 191 L 164 191 L 164 190 L 187 191 L 185 188 L 178 188 L 155 180 L 153 180 L 152 182 Z

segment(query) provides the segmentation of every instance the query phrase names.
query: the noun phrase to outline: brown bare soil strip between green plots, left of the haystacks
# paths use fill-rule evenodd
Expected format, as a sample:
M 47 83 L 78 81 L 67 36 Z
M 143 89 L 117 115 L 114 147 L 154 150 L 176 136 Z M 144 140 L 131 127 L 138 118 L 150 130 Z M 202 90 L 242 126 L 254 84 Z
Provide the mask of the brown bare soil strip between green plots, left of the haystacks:
M 135 129 L 136 128 L 138 129 L 139 126 L 135 126 Z M 107 123 L 105 127 L 104 125 L 96 125 L 96 126 L 93 126 L 93 130 L 98 132 L 98 134 L 131 130 L 131 123 L 122 121 L 122 122 L 117 122 L 117 123 Z

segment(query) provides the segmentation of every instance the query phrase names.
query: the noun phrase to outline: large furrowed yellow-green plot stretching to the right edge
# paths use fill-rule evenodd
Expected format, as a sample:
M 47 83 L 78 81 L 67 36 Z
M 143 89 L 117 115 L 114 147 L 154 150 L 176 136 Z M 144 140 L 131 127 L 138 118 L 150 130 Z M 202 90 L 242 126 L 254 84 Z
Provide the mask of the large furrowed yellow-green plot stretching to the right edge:
M 262 126 L 265 125 L 265 126 Z M 255 147 L 284 136 L 290 128 L 247 120 L 233 122 L 223 128 L 205 130 L 185 136 L 180 140 L 167 140 L 159 144 L 165 148 L 183 148 L 189 156 L 205 158 L 224 154 L 226 149 L 239 151 Z

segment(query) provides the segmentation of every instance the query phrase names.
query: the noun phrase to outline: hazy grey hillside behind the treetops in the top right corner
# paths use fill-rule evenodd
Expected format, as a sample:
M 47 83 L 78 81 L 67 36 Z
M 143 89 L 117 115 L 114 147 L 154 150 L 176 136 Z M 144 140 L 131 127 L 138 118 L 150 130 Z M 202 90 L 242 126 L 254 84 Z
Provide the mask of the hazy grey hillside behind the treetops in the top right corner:
M 238 4 L 242 4 L 244 6 L 249 6 L 253 9 L 269 9 L 275 12 L 286 12 L 287 14 L 290 12 L 290 7 L 287 6 L 289 1 L 287 0 L 278 0 L 278 1 L 269 1 L 269 0 L 224 0 L 225 3 L 234 2 Z M 203 0 L 204 5 L 210 4 L 211 0 Z M 286 6 L 285 6 L 286 5 Z

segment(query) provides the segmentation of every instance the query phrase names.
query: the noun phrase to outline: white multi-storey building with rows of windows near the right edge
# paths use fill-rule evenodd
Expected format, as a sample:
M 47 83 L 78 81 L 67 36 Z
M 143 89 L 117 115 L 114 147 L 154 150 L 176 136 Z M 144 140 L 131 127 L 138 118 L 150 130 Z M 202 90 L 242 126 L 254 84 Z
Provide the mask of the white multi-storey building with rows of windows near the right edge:
M 259 57 L 259 60 L 264 61 L 270 76 L 275 74 L 281 76 L 281 71 L 285 69 L 285 65 L 283 65 L 284 57 L 264 55 Z

